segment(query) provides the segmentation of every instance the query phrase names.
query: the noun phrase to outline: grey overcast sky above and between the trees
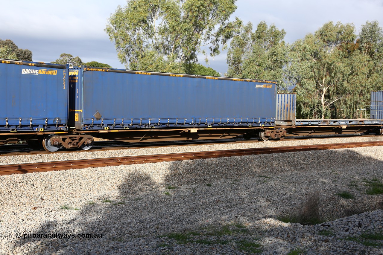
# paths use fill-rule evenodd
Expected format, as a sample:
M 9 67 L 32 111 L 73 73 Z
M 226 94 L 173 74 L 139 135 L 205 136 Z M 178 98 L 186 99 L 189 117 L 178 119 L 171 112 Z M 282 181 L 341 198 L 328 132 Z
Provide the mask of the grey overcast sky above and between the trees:
M 0 39 L 31 50 L 33 61 L 51 62 L 69 53 L 83 62 L 124 69 L 104 31 L 118 5 L 126 5 L 126 0 L 2 1 Z M 231 19 L 251 21 L 254 28 L 262 20 L 275 24 L 285 29 L 287 43 L 314 33 L 327 21 L 354 23 L 357 34 L 366 21 L 378 20 L 383 26 L 383 0 L 237 0 L 236 5 Z M 205 64 L 203 56 L 200 62 Z M 226 72 L 226 52 L 211 58 L 209 66 Z

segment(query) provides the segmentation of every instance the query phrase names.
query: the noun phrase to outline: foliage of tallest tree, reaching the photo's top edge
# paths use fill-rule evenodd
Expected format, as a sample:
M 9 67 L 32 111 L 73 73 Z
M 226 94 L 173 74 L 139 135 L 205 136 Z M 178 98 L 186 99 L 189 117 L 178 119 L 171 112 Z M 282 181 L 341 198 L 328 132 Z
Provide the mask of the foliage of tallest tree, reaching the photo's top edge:
M 198 53 L 206 55 L 203 46 L 210 56 L 219 54 L 219 45 L 231 38 L 227 20 L 235 1 L 129 0 L 110 16 L 105 31 L 127 68 L 153 71 L 167 62 L 177 70 L 173 63 L 195 63 Z

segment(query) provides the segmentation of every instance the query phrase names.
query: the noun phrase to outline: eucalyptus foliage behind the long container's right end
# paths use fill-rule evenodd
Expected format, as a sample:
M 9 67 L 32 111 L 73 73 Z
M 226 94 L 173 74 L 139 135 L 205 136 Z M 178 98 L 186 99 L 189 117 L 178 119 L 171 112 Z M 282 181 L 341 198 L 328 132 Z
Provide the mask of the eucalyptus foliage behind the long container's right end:
M 277 80 L 284 87 L 283 67 L 287 63 L 288 47 L 285 30 L 265 21 L 253 32 L 251 22 L 246 25 L 236 20 L 236 30 L 230 43 L 228 56 L 229 77 Z

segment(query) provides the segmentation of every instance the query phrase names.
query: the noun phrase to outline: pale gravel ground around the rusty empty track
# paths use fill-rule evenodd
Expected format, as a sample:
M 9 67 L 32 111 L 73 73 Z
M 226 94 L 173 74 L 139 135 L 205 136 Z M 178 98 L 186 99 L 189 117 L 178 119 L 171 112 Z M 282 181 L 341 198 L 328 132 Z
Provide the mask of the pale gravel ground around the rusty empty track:
M 362 138 L 347 141 L 372 139 Z M 255 145 L 293 143 L 303 141 Z M 218 145 L 205 146 L 215 150 Z M 178 152 L 175 148 L 169 150 Z M 383 240 L 379 240 L 383 237 L 383 195 L 367 195 L 374 183 L 383 182 L 382 149 L 0 176 L 0 253 L 383 254 Z M 168 152 L 164 148 L 145 150 L 145 154 Z M 115 150 L 110 153 L 119 155 Z M 80 154 L 85 157 L 86 153 L 70 154 L 70 159 Z M 4 163 L 30 161 L 22 157 L 0 159 Z M 47 160 L 45 157 L 65 158 L 49 154 L 37 161 Z M 337 195 L 342 192 L 353 198 Z M 324 222 L 301 225 L 278 220 L 299 211 L 311 194 L 319 194 L 319 217 Z

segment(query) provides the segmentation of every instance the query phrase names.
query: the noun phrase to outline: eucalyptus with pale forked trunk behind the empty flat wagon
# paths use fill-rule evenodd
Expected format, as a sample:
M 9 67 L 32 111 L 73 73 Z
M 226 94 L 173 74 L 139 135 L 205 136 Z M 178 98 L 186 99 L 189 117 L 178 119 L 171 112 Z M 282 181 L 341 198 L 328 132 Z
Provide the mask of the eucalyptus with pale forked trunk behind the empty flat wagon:
M 335 103 L 352 74 L 344 46 L 356 35 L 352 24 L 324 24 L 291 47 L 286 80 L 296 84 L 297 113 L 301 118 L 335 117 Z

